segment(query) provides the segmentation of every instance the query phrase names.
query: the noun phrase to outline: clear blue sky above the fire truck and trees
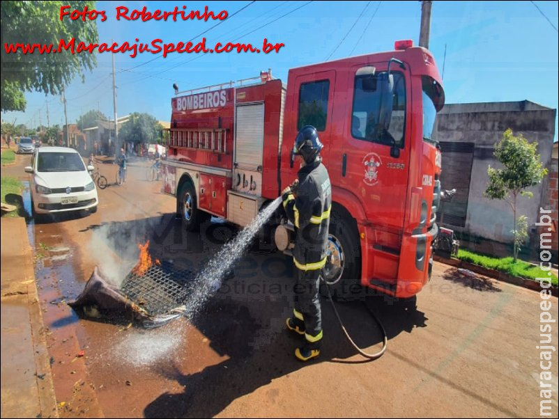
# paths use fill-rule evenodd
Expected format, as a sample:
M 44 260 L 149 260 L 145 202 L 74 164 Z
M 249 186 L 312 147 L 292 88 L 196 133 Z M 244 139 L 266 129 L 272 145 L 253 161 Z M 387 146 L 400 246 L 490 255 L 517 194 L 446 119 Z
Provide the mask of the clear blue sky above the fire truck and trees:
M 146 6 L 186 11 L 208 6 L 216 15 L 227 10 L 224 21 L 169 20 L 129 22 L 116 19 L 116 8 L 141 10 Z M 392 50 L 395 40 L 418 45 L 420 1 L 98 1 L 107 19 L 97 19 L 100 42 L 193 42 L 206 37 L 216 42 L 250 42 L 261 48 L 284 43 L 269 54 L 116 54 L 118 116 L 146 112 L 170 120 L 172 85 L 180 90 L 257 77 L 272 69 L 287 81 L 289 68 L 372 52 Z M 215 26 L 217 25 L 217 26 Z M 215 26 L 215 27 L 213 27 Z M 530 100 L 558 108 L 558 2 L 557 1 L 433 1 L 429 49 L 443 74 L 447 103 Z M 40 40 L 36 40 L 40 42 Z M 114 116 L 112 54 L 97 55 L 98 66 L 75 79 L 66 89 L 68 122 L 91 109 Z M 59 97 L 26 93 L 24 112 L 2 113 L 6 122 L 29 127 L 62 125 Z M 556 136 L 557 141 L 557 119 Z

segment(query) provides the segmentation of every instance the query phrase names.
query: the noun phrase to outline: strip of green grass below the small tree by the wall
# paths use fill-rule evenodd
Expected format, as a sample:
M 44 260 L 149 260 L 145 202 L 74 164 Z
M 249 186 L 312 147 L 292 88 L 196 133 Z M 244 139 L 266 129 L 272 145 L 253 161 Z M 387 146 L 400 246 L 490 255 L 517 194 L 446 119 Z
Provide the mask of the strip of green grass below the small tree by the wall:
M 550 277 L 547 274 L 548 272 L 543 271 L 539 266 L 523 262 L 522 260 L 516 260 L 515 263 L 513 258 L 492 258 L 491 256 L 478 255 L 477 253 L 465 251 L 464 249 L 459 249 L 458 258 L 459 260 L 477 264 L 484 268 L 505 272 L 505 274 L 516 276 L 518 278 L 534 280 L 536 278 L 551 278 L 551 283 L 555 286 L 558 285 L 558 279 L 555 274 L 551 273 Z

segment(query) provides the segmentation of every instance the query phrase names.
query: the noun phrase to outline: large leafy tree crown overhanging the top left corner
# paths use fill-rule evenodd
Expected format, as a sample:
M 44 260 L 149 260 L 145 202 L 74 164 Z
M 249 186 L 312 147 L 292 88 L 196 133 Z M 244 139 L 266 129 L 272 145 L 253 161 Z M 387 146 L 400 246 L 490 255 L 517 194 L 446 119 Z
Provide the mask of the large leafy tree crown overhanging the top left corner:
M 71 10 L 95 8 L 95 1 L 2 1 L 0 26 L 2 28 L 1 49 L 1 111 L 24 111 L 24 92 L 36 90 L 45 94 L 58 95 L 64 86 L 79 75 L 84 80 L 84 70 L 96 64 L 95 54 L 72 54 L 62 49 L 56 54 L 23 54 L 6 52 L 5 45 L 52 43 L 56 49 L 59 41 L 75 39 L 86 45 L 98 42 L 95 20 L 60 19 L 61 6 Z

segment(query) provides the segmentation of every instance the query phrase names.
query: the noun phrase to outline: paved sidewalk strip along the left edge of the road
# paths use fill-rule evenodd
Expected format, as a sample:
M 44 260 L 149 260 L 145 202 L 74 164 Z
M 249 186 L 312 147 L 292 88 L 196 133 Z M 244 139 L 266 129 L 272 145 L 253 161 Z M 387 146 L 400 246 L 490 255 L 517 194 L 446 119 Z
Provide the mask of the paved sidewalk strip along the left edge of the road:
M 0 219 L 0 231 L 1 417 L 58 418 L 25 221 Z

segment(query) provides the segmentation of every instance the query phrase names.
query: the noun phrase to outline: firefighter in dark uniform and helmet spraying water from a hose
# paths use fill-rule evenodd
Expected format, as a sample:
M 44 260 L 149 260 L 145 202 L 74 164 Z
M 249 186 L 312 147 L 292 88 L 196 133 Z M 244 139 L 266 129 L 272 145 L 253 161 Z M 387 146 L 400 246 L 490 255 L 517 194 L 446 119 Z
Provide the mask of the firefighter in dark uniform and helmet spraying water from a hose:
M 286 324 L 290 331 L 305 335 L 305 345 L 295 351 L 301 361 L 319 356 L 322 340 L 319 281 L 326 264 L 332 203 L 330 177 L 320 157 L 322 148 L 314 127 L 300 130 L 293 146 L 301 163 L 298 179 L 282 192 L 284 210 L 296 228 L 293 263 L 298 270 L 293 317 Z

